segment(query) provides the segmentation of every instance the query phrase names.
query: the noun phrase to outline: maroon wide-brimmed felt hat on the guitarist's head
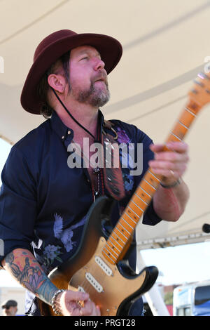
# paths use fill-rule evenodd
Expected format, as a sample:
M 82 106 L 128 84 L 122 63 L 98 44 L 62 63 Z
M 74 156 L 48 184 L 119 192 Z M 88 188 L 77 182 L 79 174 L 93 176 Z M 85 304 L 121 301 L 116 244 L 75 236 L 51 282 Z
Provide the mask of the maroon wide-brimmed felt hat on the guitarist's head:
M 37 85 L 46 70 L 67 51 L 86 45 L 99 51 L 107 74 L 116 67 L 123 53 L 120 42 L 104 34 L 77 34 L 69 29 L 53 32 L 38 44 L 34 63 L 22 88 L 20 102 L 27 112 L 40 114 L 41 100 L 38 98 Z

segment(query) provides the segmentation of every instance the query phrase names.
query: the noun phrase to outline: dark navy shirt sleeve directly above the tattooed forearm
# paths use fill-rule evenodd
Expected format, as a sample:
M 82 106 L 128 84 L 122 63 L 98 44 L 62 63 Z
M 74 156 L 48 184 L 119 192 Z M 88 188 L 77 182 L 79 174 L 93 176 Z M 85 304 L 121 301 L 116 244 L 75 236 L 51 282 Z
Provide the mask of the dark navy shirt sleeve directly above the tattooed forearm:
M 27 159 L 15 146 L 1 173 L 0 262 L 16 248 L 31 250 L 36 221 L 35 183 Z

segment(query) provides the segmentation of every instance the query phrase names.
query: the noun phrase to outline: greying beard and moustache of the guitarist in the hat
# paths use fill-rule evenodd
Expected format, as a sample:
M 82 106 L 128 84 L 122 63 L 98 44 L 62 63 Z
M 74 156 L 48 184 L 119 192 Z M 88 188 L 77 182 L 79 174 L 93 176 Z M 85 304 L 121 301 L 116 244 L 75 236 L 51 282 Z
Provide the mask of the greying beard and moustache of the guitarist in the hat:
M 107 81 L 104 81 L 104 88 L 95 86 L 94 83 L 95 81 L 91 81 L 90 88 L 83 90 L 73 88 L 71 85 L 71 92 L 79 103 L 85 103 L 92 107 L 103 107 L 110 98 L 108 83 Z

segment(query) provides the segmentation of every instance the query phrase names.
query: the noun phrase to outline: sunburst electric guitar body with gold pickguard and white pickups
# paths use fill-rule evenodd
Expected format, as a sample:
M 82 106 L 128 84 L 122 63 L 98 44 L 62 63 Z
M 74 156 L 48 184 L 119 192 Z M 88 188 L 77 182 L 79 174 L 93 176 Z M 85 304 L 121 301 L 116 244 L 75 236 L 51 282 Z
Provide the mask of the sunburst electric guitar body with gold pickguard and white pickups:
M 99 197 L 91 206 L 78 250 L 66 263 L 50 272 L 49 278 L 59 289 L 76 289 L 90 294 L 101 315 L 128 315 L 132 303 L 151 289 L 158 269 L 146 267 L 137 275 L 126 260 L 116 265 L 102 255 L 106 244 L 106 224 L 113 200 Z M 127 244 L 125 253 L 130 244 Z M 124 253 L 124 254 L 125 254 Z M 43 315 L 54 315 L 52 308 L 39 301 Z

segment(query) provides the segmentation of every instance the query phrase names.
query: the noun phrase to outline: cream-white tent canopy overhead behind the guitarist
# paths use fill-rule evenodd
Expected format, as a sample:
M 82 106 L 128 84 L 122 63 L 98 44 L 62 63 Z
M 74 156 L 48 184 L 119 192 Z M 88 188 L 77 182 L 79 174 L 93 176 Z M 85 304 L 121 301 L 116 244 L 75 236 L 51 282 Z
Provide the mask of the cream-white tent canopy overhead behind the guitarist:
M 106 119 L 135 124 L 162 143 L 186 101 L 197 73 L 210 56 L 207 0 L 1 0 L 0 136 L 16 143 L 44 119 L 28 114 L 20 93 L 34 50 L 58 29 L 109 34 L 123 44 L 123 58 L 109 75 Z M 190 201 L 176 223 L 138 226 L 139 249 L 204 242 L 210 223 L 210 106 L 186 138 L 190 164 L 184 177 Z

